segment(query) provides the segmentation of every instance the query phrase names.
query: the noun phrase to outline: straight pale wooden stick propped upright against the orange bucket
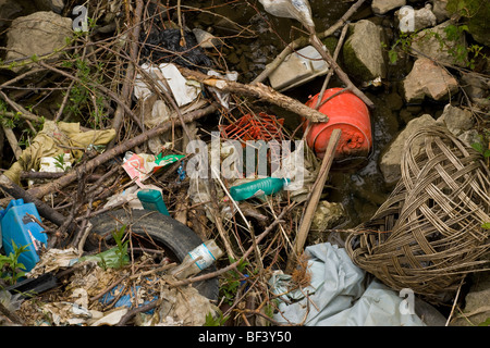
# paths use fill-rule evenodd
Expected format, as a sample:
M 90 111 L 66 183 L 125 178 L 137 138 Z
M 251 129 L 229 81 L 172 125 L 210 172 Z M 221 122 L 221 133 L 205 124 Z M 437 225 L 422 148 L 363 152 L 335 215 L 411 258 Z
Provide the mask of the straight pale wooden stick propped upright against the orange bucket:
M 296 240 L 294 241 L 294 248 L 291 251 L 290 257 L 287 258 L 287 264 L 285 273 L 291 273 L 296 263 L 297 257 L 302 253 L 303 247 L 306 243 L 306 237 L 308 236 L 309 228 L 311 227 L 311 221 L 315 215 L 315 211 L 317 210 L 318 202 L 320 201 L 320 196 L 324 187 L 324 183 L 327 182 L 327 177 L 330 171 L 330 166 L 332 165 L 334 152 L 336 149 L 336 145 L 339 144 L 342 130 L 333 129 L 332 135 L 329 140 L 329 145 L 324 152 L 323 161 L 321 162 L 320 172 L 318 173 L 318 177 L 314 184 L 311 194 L 309 196 L 308 206 L 306 207 L 305 214 L 299 224 L 299 228 L 296 235 Z

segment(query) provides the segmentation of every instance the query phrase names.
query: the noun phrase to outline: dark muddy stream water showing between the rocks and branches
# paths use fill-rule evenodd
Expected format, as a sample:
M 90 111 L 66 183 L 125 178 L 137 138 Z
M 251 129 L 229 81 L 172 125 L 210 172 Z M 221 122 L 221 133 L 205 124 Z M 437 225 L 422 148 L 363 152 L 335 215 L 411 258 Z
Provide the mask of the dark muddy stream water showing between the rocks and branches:
M 334 24 L 353 2 L 311 0 L 310 4 L 317 32 L 320 32 Z M 219 37 L 226 37 L 225 46 L 217 59 L 224 62 L 229 70 L 238 71 L 242 83 L 252 82 L 287 42 L 302 36 L 301 25 L 297 22 L 268 15 L 258 1 L 199 1 L 195 5 L 200 9 L 208 8 L 209 11 L 221 15 L 189 14 L 187 20 L 191 21 L 187 25 L 209 30 Z M 224 20 L 225 17 L 233 23 Z M 392 38 L 395 33 L 391 18 L 373 16 L 369 4 L 363 5 L 351 21 L 360 18 L 368 18 L 381 25 L 388 38 Z M 249 27 L 254 33 L 247 32 L 244 27 Z M 341 60 L 340 63 L 342 64 Z M 370 114 L 375 144 L 372 153 L 356 167 L 346 169 L 343 164 L 334 164 L 332 167 L 324 199 L 342 202 L 346 209 L 347 219 L 339 227 L 348 228 L 369 220 L 385 201 L 393 187 L 383 181 L 378 166 L 379 158 L 406 122 L 426 111 L 425 105 L 403 103 L 397 94 L 399 82 L 409 72 L 411 66 L 403 60 L 400 64 L 402 66 L 389 66 L 389 77 L 383 86 L 364 90 L 376 104 Z M 310 96 L 320 90 L 322 83 L 323 77 L 319 77 L 285 94 L 306 102 Z M 329 88 L 338 86 L 341 86 L 340 80 L 332 78 Z M 295 129 L 299 125 L 296 115 L 273 105 L 264 107 L 267 108 L 267 112 L 284 117 L 287 128 Z

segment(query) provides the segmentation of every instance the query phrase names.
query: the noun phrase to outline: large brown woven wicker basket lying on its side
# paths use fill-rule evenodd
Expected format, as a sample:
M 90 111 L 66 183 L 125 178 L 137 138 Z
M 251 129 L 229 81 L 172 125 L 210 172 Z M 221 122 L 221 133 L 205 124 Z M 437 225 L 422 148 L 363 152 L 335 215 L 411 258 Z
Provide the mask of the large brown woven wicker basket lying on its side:
M 481 225 L 490 222 L 489 171 L 478 152 L 442 127 L 408 138 L 401 169 L 389 199 L 345 246 L 359 268 L 391 288 L 437 302 L 488 262 L 481 259 L 490 250 L 489 231 Z

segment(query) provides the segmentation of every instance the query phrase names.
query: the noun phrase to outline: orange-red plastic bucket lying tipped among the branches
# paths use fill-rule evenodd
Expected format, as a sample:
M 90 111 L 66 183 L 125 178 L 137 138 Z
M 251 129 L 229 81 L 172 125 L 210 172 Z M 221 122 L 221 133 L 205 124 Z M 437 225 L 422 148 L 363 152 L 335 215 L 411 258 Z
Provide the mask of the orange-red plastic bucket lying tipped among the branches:
M 322 101 L 342 90 L 330 88 L 323 92 Z M 319 94 L 310 98 L 306 104 L 315 108 Z M 328 122 L 311 124 L 306 135 L 306 144 L 315 154 L 322 159 L 330 136 L 335 128 L 342 129 L 342 135 L 335 150 L 335 160 L 368 157 L 372 148 L 371 122 L 366 104 L 350 91 L 344 91 L 320 107 L 318 110 L 329 117 Z M 305 123 L 307 129 L 308 122 Z

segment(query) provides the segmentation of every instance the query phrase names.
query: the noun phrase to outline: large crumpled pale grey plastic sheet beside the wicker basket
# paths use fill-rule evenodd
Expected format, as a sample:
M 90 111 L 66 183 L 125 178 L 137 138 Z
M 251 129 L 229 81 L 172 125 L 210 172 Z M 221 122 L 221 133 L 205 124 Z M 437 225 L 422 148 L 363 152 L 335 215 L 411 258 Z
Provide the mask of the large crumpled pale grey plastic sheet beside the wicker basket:
M 273 318 L 279 323 L 303 323 L 305 326 L 425 325 L 416 314 L 402 313 L 400 308 L 404 298 L 399 294 L 376 279 L 366 286 L 366 273 L 352 262 L 345 249 L 324 243 L 308 246 L 305 252 L 310 256 L 311 272 L 307 288 L 284 294 L 291 276 L 275 274 L 269 279 L 272 291 L 283 294 L 279 304 L 281 313 Z

